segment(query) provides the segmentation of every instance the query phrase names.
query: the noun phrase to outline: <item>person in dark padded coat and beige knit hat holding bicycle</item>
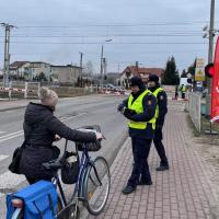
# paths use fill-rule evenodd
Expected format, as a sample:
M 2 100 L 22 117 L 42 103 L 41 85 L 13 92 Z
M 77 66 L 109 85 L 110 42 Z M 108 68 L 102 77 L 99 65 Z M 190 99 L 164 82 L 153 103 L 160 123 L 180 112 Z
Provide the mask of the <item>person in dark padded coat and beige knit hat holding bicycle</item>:
M 61 123 L 54 111 L 58 95 L 47 88 L 39 91 L 41 103 L 30 103 L 24 115 L 24 137 L 26 147 L 22 152 L 20 172 L 32 184 L 39 180 L 50 180 L 51 174 L 42 169 L 42 163 L 56 159 L 59 149 L 53 146 L 56 135 L 72 141 L 91 142 L 102 139 L 102 134 L 82 132 Z

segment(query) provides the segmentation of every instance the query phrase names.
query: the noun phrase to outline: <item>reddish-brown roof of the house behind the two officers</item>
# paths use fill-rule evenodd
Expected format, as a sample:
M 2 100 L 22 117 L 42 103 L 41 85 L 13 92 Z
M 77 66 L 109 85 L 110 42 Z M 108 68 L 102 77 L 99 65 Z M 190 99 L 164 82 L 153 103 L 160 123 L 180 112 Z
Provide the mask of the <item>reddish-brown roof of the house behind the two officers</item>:
M 134 76 L 138 74 L 157 74 L 159 78 L 164 73 L 164 70 L 162 68 L 139 68 L 136 66 L 128 66 L 126 69 L 123 71 L 125 72 L 130 72 Z

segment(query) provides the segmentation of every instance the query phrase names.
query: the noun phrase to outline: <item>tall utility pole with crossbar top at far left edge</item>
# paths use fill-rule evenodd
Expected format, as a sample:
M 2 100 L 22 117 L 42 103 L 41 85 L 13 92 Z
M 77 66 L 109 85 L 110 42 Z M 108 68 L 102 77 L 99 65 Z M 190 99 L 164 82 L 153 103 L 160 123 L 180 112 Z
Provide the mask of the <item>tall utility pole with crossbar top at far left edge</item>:
M 9 65 L 10 65 L 10 54 L 9 54 L 9 45 L 10 45 L 10 31 L 15 27 L 13 25 L 1 23 L 1 25 L 5 30 L 4 35 L 4 61 L 3 61 L 3 87 L 9 85 Z

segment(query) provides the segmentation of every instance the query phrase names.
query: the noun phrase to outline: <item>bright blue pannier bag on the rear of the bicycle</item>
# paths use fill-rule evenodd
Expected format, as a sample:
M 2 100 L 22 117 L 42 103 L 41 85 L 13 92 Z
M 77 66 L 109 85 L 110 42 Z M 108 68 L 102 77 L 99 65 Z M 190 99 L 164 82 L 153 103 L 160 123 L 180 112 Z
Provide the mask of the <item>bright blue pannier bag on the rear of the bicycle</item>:
M 11 219 L 13 198 L 24 201 L 24 219 L 55 219 L 57 212 L 57 191 L 49 181 L 38 181 L 15 194 L 7 195 L 7 219 Z

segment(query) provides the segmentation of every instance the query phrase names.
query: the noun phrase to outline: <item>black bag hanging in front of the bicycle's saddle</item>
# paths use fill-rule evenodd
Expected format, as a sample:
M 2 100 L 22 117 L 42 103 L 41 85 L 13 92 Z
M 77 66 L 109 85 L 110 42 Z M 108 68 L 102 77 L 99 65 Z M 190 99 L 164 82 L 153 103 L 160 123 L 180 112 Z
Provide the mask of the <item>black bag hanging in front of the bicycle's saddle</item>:
M 79 175 L 79 155 L 66 151 L 64 165 L 61 168 L 61 181 L 65 184 L 74 184 Z

